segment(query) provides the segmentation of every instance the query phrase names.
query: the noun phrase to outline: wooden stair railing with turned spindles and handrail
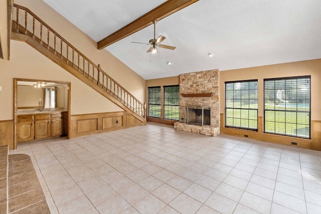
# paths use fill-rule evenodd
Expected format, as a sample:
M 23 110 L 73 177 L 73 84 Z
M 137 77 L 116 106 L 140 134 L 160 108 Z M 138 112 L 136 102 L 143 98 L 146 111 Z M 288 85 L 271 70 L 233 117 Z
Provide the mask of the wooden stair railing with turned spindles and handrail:
M 16 16 L 13 16 L 12 18 L 13 26 L 16 24 L 16 28 L 12 29 L 14 32 L 31 36 L 35 41 L 39 42 L 40 45 L 45 46 L 48 50 L 52 51 L 54 55 L 59 56 L 84 77 L 90 79 L 97 87 L 105 90 L 108 94 L 112 95 L 139 116 L 146 118 L 145 104 L 140 102 L 117 81 L 105 73 L 99 64 L 94 64 L 28 8 L 14 4 L 14 9 L 16 10 Z M 24 16 L 20 14 L 21 10 L 24 12 Z M 28 15 L 32 17 L 32 20 L 29 21 Z M 37 26 L 37 22 L 39 22 L 40 26 Z M 44 32 L 44 28 L 47 29 L 47 32 Z M 37 31 L 40 31 L 40 35 L 38 33 L 39 37 L 37 37 Z M 59 40 L 60 47 L 57 49 Z

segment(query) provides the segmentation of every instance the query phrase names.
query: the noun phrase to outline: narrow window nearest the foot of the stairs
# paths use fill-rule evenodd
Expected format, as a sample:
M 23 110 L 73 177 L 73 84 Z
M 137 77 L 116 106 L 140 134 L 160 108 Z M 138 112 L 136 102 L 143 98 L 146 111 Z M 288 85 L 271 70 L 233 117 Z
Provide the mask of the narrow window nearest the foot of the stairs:
M 161 118 L 161 86 L 148 87 L 148 116 Z

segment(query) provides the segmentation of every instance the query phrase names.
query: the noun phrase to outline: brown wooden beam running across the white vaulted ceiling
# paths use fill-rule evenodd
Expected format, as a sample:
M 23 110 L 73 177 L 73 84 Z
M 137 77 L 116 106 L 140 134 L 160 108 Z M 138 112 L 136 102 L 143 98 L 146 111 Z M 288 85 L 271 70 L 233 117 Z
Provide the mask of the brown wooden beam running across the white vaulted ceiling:
M 157 8 L 154 8 L 153 10 L 139 17 L 135 21 L 126 25 L 125 27 L 109 35 L 105 39 L 99 41 L 97 43 L 97 48 L 101 50 L 125 37 L 128 37 L 133 33 L 136 33 L 137 31 L 140 31 L 143 28 L 146 28 L 147 26 L 151 25 L 153 21 L 162 20 L 165 17 L 168 17 L 171 14 L 174 14 L 175 12 L 183 8 L 186 8 L 198 1 L 199 0 L 168 0 L 167 2 L 158 6 Z

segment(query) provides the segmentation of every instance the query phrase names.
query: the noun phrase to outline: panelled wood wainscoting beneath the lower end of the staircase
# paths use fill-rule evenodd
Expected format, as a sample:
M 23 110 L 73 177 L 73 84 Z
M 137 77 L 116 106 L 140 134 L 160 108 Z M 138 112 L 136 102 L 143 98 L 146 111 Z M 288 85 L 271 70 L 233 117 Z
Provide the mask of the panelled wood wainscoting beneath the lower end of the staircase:
M 145 125 L 126 111 L 72 115 L 70 138 Z

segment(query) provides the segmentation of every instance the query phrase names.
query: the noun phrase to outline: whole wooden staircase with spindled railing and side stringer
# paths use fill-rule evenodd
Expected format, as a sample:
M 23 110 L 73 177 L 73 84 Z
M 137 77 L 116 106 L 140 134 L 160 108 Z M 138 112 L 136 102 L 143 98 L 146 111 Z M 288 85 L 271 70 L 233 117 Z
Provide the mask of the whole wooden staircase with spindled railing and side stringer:
M 11 39 L 24 41 L 92 89 L 146 122 L 145 104 L 68 43 L 28 8 L 14 4 Z

